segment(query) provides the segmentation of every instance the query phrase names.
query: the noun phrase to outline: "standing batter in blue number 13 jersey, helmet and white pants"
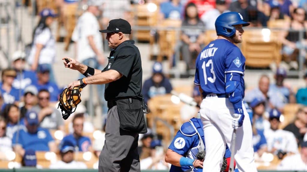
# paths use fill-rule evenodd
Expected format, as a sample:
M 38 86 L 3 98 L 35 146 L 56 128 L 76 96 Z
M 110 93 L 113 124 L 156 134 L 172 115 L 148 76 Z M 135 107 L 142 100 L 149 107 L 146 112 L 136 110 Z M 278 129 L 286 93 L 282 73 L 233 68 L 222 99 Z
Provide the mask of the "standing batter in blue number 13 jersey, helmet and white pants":
M 240 13 L 221 14 L 215 22 L 218 38 L 196 59 L 194 84 L 199 85 L 203 96 L 200 116 L 206 136 L 206 172 L 220 172 L 226 144 L 232 148 L 233 129 L 237 135 L 233 153 L 239 171 L 257 171 L 250 117 L 243 105 L 245 57 L 235 45 L 242 42 L 243 27 L 248 25 Z

